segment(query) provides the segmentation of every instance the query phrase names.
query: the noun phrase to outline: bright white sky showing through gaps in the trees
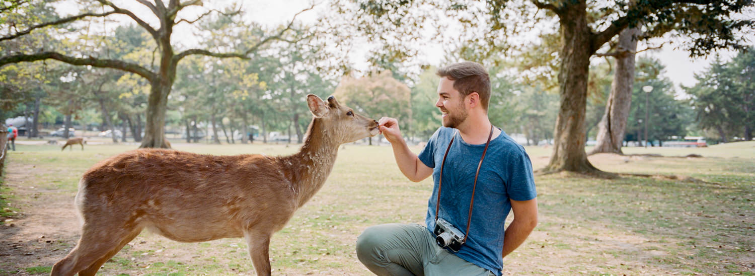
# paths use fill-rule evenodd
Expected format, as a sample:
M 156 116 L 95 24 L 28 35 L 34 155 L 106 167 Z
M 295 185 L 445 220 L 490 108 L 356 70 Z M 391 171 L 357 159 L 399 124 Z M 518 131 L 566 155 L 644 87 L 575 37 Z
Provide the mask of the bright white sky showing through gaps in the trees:
M 229 2 L 230 0 L 217 0 L 215 2 Z M 324 10 L 327 6 L 327 3 L 322 4 L 322 2 L 325 2 L 326 0 L 317 0 L 317 3 L 319 5 L 316 5 L 316 8 L 312 11 L 306 11 L 303 14 L 300 14 L 297 17 L 297 20 L 302 20 L 305 23 L 312 23 L 316 22 L 318 14 L 321 13 L 322 10 Z M 142 5 L 139 4 L 130 4 L 134 2 L 122 2 L 122 1 L 113 1 L 116 2 L 116 5 L 122 6 L 122 8 L 129 8 L 134 11 L 140 10 L 139 12 L 136 12 L 136 14 L 140 14 L 141 12 L 150 13 L 149 10 L 146 8 L 143 8 Z M 119 3 L 122 2 L 122 3 Z M 276 26 L 282 23 L 288 23 L 289 20 L 291 20 L 292 17 L 294 17 L 294 14 L 296 14 L 299 11 L 304 10 L 305 8 L 309 8 L 312 0 L 286 0 L 286 1 L 257 1 L 257 2 L 251 2 L 251 1 L 245 1 L 242 2 L 243 5 L 245 5 L 245 11 L 247 11 L 247 16 L 250 20 L 254 20 L 256 22 L 260 22 L 263 24 L 267 24 L 268 26 Z M 253 5 L 254 8 L 250 8 L 250 5 Z M 75 8 L 71 9 L 72 5 L 68 5 L 65 7 L 60 7 L 59 10 L 63 12 L 64 14 L 73 14 L 76 12 Z M 129 19 L 126 19 L 129 20 Z M 130 20 L 129 20 L 130 21 Z M 153 25 L 154 26 L 154 25 Z M 189 31 L 184 31 L 181 29 L 177 29 L 176 33 L 188 33 Z M 192 36 L 177 36 L 177 37 L 183 37 L 186 39 L 187 44 L 193 44 L 194 42 L 191 42 Z M 643 43 L 640 43 L 638 45 L 638 50 L 646 48 Z M 424 54 L 424 63 L 430 64 L 430 65 L 442 65 L 439 64 L 442 62 L 442 52 L 443 52 L 442 45 L 438 45 L 437 47 L 430 47 L 427 48 L 427 51 Z M 360 67 L 364 66 L 366 67 L 366 57 L 363 56 L 365 54 L 364 51 L 354 51 L 353 57 L 351 57 L 351 60 L 355 64 L 356 69 L 362 69 Z M 720 51 L 718 52 L 720 54 L 720 57 L 723 61 L 731 60 L 731 58 L 735 55 L 735 52 L 733 51 Z M 682 90 L 680 88 L 680 85 L 685 86 L 692 86 L 695 85 L 695 73 L 702 73 L 708 65 L 710 64 L 710 61 L 713 60 L 714 54 L 710 54 L 707 57 L 698 57 L 698 58 L 691 58 L 689 57 L 689 54 L 686 51 L 683 51 L 681 49 L 675 49 L 675 45 L 670 44 L 664 44 L 663 48 L 661 49 L 655 49 L 655 50 L 649 50 L 644 51 L 642 53 L 638 54 L 639 56 L 652 56 L 657 58 L 661 61 L 662 64 L 666 66 L 666 72 L 664 73 L 665 76 L 667 76 L 675 85 L 677 94 L 680 93 Z M 680 97 L 683 97 L 680 96 Z

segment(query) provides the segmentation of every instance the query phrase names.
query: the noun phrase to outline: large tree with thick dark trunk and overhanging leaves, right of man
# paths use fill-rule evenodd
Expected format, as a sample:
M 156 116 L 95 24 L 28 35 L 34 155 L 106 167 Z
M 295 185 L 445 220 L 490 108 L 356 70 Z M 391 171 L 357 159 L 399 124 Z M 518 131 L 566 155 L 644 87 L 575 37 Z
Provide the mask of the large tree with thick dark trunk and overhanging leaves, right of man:
M 736 31 L 752 26 L 752 20 L 733 20 L 730 15 L 752 5 L 747 0 L 734 2 L 722 1 L 615 1 L 612 3 L 575 1 L 532 0 L 539 10 L 546 12 L 546 17 L 558 19 L 561 40 L 559 57 L 559 113 L 554 128 L 553 154 L 548 165 L 541 172 L 572 171 L 601 174 L 588 160 L 584 150 L 585 107 L 587 105 L 587 82 L 590 57 L 602 48 L 606 42 L 621 33 L 627 27 L 633 28 L 639 23 L 655 23 L 653 29 L 646 33 L 666 33 L 673 28 L 680 36 L 693 36 L 689 43 L 692 55 L 704 55 L 716 48 L 741 48 L 741 39 Z M 507 0 L 488 1 L 484 8 L 476 2 L 450 2 L 445 5 L 449 14 L 456 15 L 461 23 L 479 24 L 485 18 L 491 30 L 476 43 L 482 53 L 500 54 L 500 45 L 505 45 L 507 37 L 491 36 L 499 30 L 513 29 L 518 25 L 507 26 L 513 13 L 525 18 L 538 18 L 529 5 L 513 5 L 514 11 L 508 10 Z M 402 20 L 409 13 L 407 7 L 417 5 L 413 1 L 376 1 L 360 3 L 363 14 L 390 22 L 393 26 L 403 26 Z M 468 16 L 467 14 L 473 14 Z M 477 17 L 475 17 L 477 16 Z M 712 31 L 703 31 L 713 29 Z M 501 40 L 504 40 L 503 42 Z M 468 44 L 469 45 L 469 44 Z M 475 45 L 475 44 L 471 44 Z M 503 47 L 502 49 L 505 49 Z M 499 51 L 496 51 L 499 49 Z

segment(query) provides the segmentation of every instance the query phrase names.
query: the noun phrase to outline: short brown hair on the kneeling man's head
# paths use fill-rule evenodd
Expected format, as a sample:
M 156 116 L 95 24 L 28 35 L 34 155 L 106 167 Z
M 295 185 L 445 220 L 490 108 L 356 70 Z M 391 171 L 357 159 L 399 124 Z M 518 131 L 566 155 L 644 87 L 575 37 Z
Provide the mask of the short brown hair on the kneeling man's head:
M 436 73 L 440 77 L 446 77 L 454 81 L 454 89 L 466 97 L 477 92 L 482 108 L 488 110 L 490 101 L 490 76 L 482 64 L 472 61 L 464 61 L 441 67 Z

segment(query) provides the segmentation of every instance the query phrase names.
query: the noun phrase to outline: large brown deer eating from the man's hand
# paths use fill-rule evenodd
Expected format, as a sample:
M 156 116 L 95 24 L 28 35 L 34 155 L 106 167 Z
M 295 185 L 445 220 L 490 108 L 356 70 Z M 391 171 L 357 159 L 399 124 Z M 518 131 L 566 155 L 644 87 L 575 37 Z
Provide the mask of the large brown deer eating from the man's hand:
M 52 275 L 93 275 L 144 228 L 171 240 L 245 237 L 257 275 L 270 275 L 270 236 L 322 187 L 341 144 L 377 135 L 377 122 L 307 95 L 314 118 L 297 154 L 211 156 L 133 150 L 79 181 L 82 237 Z

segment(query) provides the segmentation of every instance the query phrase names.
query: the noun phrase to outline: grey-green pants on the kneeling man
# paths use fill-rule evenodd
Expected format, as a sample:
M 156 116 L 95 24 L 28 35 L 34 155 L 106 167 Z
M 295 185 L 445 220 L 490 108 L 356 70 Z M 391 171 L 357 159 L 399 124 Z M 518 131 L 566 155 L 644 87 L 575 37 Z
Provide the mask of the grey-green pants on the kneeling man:
M 435 243 L 424 225 L 391 223 L 365 229 L 356 256 L 377 275 L 495 275 Z

